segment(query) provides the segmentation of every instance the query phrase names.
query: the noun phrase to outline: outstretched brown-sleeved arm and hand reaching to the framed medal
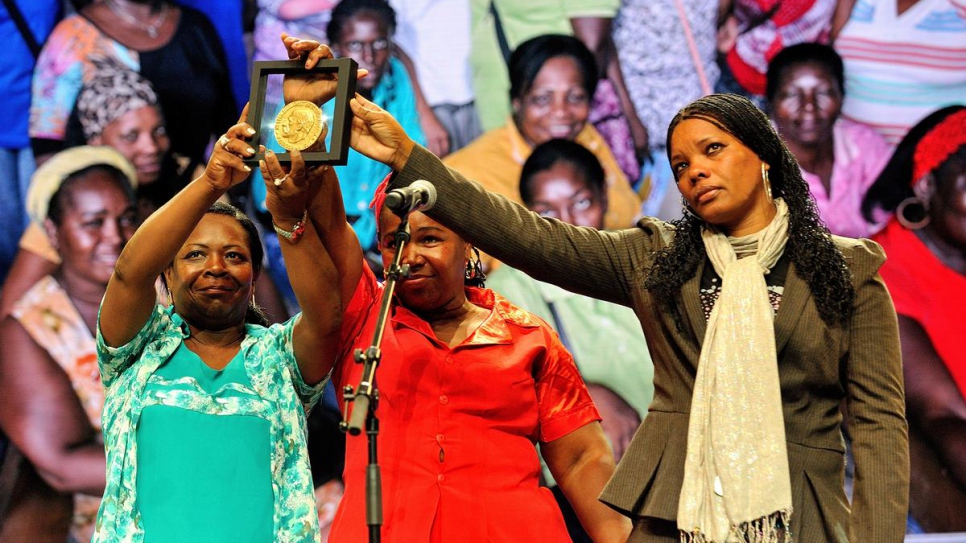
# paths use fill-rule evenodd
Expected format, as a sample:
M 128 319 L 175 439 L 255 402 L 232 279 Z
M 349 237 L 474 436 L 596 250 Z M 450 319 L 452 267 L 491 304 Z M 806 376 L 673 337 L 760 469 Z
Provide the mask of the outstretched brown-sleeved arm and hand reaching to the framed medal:
M 444 166 L 379 106 L 358 95 L 350 106 L 352 147 L 396 170 L 393 188 L 417 179 L 431 182 L 438 193 L 427 212 L 433 219 L 536 279 L 631 305 L 642 258 L 659 234 L 640 228 L 602 232 L 540 217 Z

